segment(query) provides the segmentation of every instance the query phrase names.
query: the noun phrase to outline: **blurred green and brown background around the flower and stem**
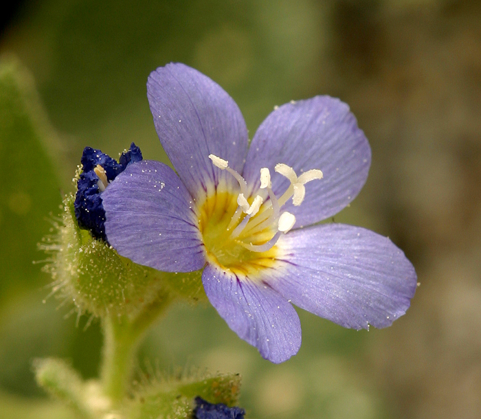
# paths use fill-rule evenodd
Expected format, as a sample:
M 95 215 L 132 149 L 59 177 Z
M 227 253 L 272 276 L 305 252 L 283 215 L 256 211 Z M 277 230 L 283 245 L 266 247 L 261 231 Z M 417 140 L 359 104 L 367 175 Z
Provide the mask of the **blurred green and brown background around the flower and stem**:
M 249 137 L 274 105 L 348 102 L 372 168 L 336 220 L 390 236 L 421 287 L 385 330 L 299 310 L 302 348 L 282 365 L 212 307 L 179 304 L 148 335 L 139 370 L 240 372 L 247 418 L 481 417 L 480 1 L 25 0 L 8 6 L 0 36 L 1 418 L 71 417 L 36 388 L 37 356 L 98 374 L 98 322 L 76 327 L 71 303 L 43 303 L 37 243 L 85 146 L 116 157 L 135 141 L 166 161 L 146 80 L 170 61 L 221 84 Z

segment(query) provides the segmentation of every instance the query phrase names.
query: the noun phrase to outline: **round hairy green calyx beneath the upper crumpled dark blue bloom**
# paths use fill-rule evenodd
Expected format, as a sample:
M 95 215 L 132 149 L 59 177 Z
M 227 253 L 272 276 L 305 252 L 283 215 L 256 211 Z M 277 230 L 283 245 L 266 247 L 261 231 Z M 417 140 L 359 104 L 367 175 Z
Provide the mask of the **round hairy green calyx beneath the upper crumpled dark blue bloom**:
M 80 229 L 72 194 L 63 205 L 58 236 L 44 242 L 43 249 L 53 256 L 47 270 L 55 280 L 54 289 L 71 298 L 81 313 L 127 317 L 134 322 L 159 299 L 205 299 L 200 271 L 166 273 L 123 258 L 106 242 Z

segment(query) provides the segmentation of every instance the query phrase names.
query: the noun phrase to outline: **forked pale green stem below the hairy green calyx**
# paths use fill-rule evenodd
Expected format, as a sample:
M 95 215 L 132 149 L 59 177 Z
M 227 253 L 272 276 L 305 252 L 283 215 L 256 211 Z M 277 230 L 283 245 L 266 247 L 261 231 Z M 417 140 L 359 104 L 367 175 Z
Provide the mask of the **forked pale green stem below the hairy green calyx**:
M 147 306 L 134 320 L 126 316 L 104 319 L 104 351 L 100 376 L 104 395 L 111 398 L 114 405 L 118 405 L 126 396 L 140 338 L 171 301 L 166 293 Z

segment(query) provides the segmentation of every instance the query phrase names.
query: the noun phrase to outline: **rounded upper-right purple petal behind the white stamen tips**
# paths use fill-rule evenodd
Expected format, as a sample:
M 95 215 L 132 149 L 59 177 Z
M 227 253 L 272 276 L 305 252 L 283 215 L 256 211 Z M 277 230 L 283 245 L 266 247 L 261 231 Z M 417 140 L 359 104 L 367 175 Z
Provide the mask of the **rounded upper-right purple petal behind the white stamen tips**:
M 316 96 L 280 106 L 259 126 L 252 139 L 243 172 L 247 184 L 260 185 L 260 168 L 271 172 L 277 163 L 291 166 L 300 175 L 320 169 L 323 179 L 306 184 L 306 197 L 283 210 L 295 215 L 295 227 L 324 220 L 355 199 L 368 177 L 371 151 L 349 106 L 329 96 Z M 272 178 L 278 195 L 289 186 L 282 176 Z

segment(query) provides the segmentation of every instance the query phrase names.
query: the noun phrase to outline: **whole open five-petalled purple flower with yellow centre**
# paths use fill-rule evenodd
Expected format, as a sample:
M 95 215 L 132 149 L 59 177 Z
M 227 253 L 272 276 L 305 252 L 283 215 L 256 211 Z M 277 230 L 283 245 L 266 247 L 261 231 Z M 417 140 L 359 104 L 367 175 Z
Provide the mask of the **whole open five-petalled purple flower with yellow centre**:
M 199 71 L 160 67 L 147 91 L 177 174 L 142 161 L 104 192 L 107 237 L 122 256 L 161 271 L 203 269 L 221 317 L 274 363 L 300 348 L 291 302 L 358 330 L 405 313 L 416 273 L 400 249 L 361 227 L 313 225 L 353 201 L 368 176 L 370 147 L 346 104 L 284 104 L 248 146 L 238 106 Z

